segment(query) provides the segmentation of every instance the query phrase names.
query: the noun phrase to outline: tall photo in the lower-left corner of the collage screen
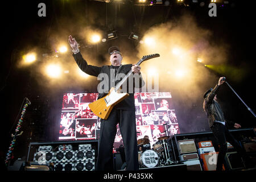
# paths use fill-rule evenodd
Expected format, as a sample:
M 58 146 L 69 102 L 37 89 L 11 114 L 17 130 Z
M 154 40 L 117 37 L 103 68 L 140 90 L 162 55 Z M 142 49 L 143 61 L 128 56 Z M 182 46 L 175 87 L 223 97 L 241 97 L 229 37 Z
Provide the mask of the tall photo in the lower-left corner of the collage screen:
M 60 118 L 59 139 L 75 138 L 75 113 L 62 112 Z

